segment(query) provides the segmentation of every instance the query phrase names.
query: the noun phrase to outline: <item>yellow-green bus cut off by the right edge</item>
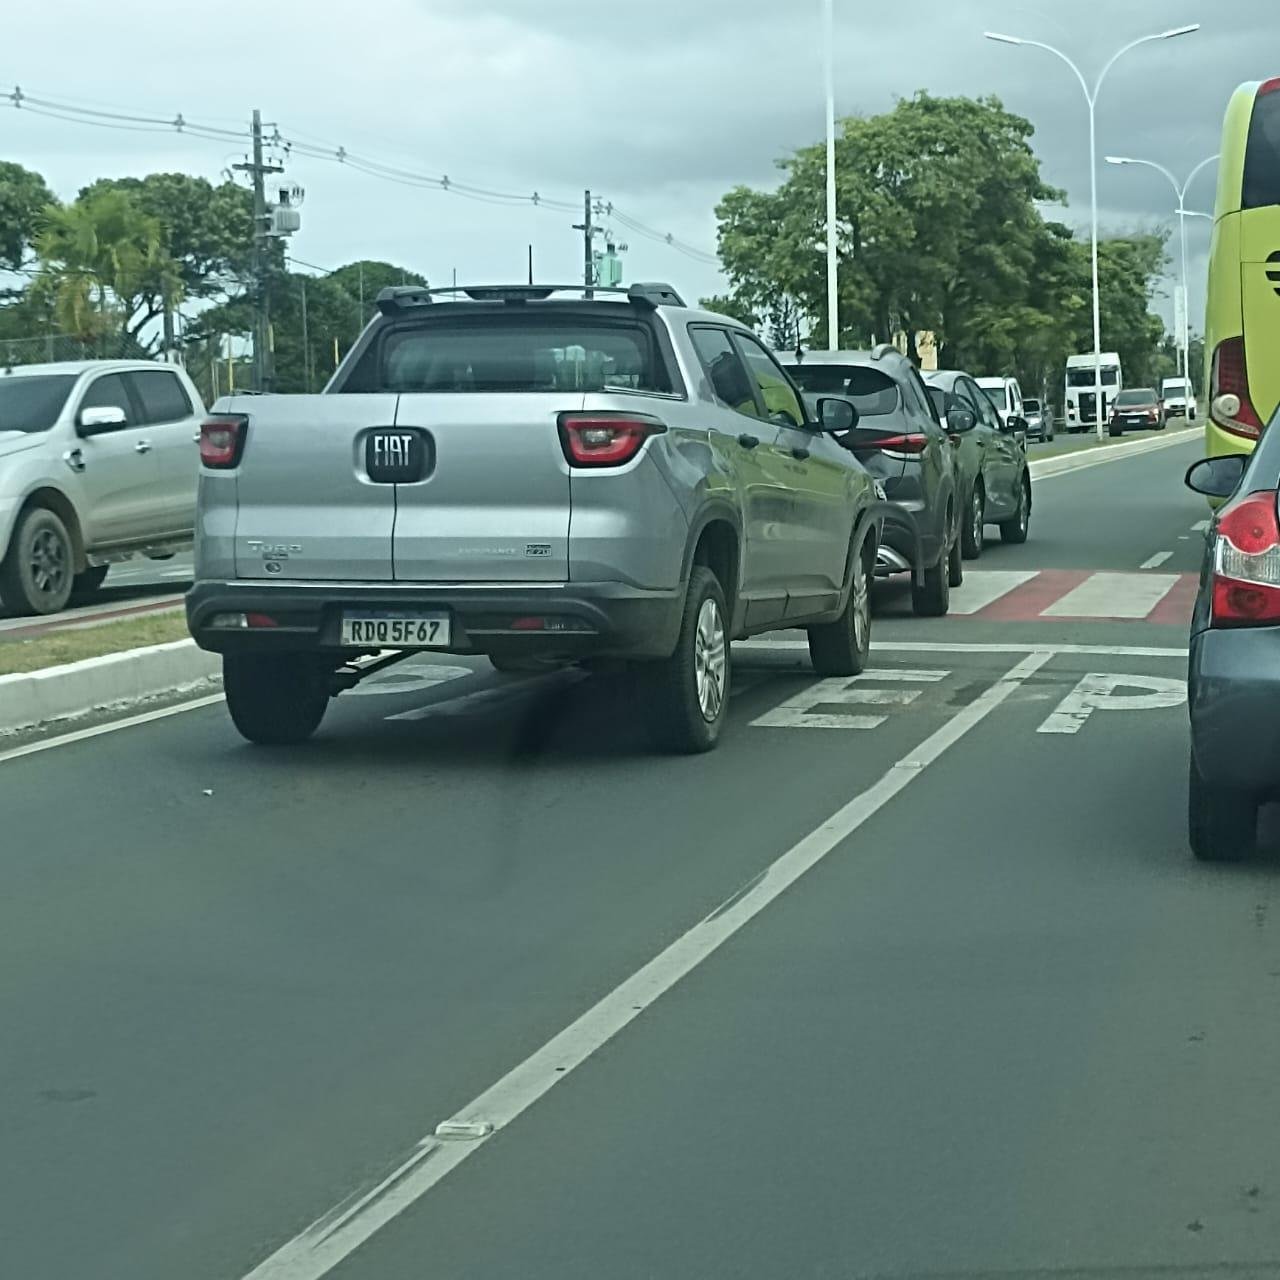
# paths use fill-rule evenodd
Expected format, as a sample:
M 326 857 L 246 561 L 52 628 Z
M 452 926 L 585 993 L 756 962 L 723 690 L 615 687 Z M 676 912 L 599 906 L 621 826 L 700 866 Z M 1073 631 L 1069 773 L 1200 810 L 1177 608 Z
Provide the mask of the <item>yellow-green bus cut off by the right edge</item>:
M 1249 453 L 1280 403 L 1280 77 L 1222 122 L 1204 311 L 1206 451 Z

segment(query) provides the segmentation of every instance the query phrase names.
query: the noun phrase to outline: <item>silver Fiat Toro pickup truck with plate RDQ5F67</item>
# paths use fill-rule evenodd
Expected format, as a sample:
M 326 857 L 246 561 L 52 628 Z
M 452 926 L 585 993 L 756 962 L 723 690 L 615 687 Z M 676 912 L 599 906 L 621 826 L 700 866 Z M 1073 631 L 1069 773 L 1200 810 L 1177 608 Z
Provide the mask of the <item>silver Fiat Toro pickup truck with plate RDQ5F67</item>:
M 570 292 L 385 289 L 324 393 L 214 406 L 187 614 L 246 737 L 308 737 L 383 652 L 625 664 L 685 751 L 719 736 L 733 639 L 804 627 L 819 672 L 861 671 L 854 406 L 812 420 L 667 285 Z

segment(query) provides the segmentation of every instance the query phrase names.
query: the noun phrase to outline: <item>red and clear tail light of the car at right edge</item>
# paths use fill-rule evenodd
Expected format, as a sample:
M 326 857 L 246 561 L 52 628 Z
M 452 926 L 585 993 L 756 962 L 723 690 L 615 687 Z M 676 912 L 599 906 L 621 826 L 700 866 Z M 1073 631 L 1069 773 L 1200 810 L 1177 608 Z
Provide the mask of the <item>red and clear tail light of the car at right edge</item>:
M 1280 522 L 1276 494 L 1251 493 L 1217 517 L 1213 544 L 1215 627 L 1280 622 Z

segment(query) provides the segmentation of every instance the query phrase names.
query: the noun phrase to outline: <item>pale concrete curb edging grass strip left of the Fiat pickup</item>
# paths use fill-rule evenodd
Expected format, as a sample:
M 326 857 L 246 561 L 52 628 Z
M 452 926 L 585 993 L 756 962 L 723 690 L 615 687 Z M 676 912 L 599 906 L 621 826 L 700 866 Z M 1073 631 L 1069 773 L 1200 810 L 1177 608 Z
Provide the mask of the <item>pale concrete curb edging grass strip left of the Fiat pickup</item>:
M 193 640 L 175 640 L 0 676 L 0 735 L 182 692 L 209 684 L 220 672 L 218 654 L 197 649 Z

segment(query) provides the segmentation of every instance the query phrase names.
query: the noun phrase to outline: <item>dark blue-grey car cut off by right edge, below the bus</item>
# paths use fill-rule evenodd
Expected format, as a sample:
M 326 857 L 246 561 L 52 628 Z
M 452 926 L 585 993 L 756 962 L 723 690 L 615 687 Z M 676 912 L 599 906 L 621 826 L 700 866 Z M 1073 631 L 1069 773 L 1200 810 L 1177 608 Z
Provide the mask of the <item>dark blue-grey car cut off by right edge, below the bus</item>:
M 1280 411 L 1252 456 L 1203 458 L 1187 485 L 1229 499 L 1206 535 L 1187 680 L 1192 851 L 1226 861 L 1280 799 Z

